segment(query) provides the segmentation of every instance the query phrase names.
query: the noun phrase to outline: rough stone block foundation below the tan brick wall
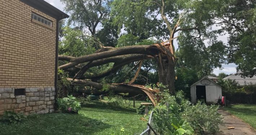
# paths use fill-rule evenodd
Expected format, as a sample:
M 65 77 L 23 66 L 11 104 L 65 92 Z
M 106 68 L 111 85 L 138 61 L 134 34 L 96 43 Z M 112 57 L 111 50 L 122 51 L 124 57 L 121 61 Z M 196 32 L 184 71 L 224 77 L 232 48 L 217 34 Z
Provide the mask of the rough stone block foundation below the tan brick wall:
M 4 111 L 29 113 L 54 112 L 55 88 L 26 88 L 25 95 L 14 96 L 14 88 L 0 88 L 0 115 Z

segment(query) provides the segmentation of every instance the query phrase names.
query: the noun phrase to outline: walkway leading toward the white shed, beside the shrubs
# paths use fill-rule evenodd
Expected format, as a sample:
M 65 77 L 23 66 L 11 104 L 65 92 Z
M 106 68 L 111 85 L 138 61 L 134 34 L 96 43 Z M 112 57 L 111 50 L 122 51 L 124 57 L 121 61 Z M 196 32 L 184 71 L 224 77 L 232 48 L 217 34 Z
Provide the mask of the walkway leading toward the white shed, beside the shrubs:
M 225 125 L 220 125 L 221 133 L 217 135 L 256 135 L 256 132 L 241 119 L 231 115 L 224 109 L 218 111 L 224 117 Z M 228 127 L 235 127 L 235 129 L 227 129 Z

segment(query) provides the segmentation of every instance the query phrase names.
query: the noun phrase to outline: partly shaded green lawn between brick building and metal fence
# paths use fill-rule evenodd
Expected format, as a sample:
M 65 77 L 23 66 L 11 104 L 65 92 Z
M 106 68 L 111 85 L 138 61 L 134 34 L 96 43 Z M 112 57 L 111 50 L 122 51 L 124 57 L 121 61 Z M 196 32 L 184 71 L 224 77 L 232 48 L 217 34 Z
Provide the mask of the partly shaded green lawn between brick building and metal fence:
M 0 124 L 0 135 L 133 135 L 146 129 L 141 117 L 136 114 L 136 108 L 91 101 L 79 114 L 31 115 L 21 123 Z

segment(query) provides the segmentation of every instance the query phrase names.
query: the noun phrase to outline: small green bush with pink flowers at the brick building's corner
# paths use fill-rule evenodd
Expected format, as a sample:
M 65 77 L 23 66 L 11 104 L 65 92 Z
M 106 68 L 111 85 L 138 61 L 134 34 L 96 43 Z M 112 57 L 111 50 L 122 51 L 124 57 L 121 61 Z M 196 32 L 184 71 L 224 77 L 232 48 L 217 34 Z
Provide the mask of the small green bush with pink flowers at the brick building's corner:
M 58 99 L 59 109 L 63 112 L 74 113 L 81 109 L 81 104 L 73 95 L 67 95 L 66 98 Z

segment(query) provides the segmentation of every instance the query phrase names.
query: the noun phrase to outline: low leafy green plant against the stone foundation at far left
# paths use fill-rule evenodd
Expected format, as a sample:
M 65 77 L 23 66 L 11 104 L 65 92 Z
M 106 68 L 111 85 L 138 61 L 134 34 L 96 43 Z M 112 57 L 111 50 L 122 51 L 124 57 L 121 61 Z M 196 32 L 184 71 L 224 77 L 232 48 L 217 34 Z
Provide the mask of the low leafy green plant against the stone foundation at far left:
M 4 115 L 1 116 L 1 122 L 3 123 L 17 123 L 24 120 L 27 116 L 23 113 L 16 113 L 14 111 L 5 111 Z

